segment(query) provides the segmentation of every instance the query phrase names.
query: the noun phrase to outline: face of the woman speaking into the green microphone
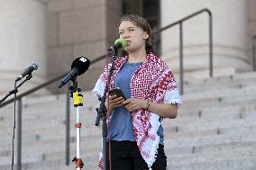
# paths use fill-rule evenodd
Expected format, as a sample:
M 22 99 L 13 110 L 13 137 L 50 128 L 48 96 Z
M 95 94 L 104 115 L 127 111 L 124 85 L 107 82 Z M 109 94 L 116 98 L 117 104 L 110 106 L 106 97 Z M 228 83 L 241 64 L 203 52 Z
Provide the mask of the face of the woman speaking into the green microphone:
M 120 23 L 119 36 L 127 41 L 127 46 L 125 48 L 127 52 L 145 49 L 145 40 L 149 38 L 146 31 L 142 31 L 141 28 L 135 26 L 133 22 L 129 21 L 123 21 Z

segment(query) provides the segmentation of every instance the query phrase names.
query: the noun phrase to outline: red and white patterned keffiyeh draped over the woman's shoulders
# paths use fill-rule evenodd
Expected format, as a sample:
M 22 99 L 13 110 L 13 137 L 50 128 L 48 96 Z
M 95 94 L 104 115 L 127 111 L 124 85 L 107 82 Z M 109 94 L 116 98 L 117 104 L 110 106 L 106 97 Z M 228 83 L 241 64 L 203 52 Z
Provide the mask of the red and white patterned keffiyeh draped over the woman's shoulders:
M 114 62 L 114 73 L 110 86 L 114 86 L 114 78 L 128 57 L 117 58 Z M 111 67 L 110 65 L 108 66 Z M 108 68 L 108 70 L 109 70 Z M 102 96 L 107 81 L 107 68 L 100 76 L 93 93 Z M 153 103 L 178 103 L 180 97 L 175 78 L 167 64 L 150 53 L 145 62 L 133 74 L 131 82 L 131 97 L 151 101 Z M 109 121 L 109 120 L 108 120 Z M 133 131 L 141 155 L 151 169 L 157 155 L 160 137 L 157 131 L 160 127 L 160 116 L 153 112 L 138 110 L 133 112 Z M 103 157 L 100 154 L 99 169 L 103 169 Z

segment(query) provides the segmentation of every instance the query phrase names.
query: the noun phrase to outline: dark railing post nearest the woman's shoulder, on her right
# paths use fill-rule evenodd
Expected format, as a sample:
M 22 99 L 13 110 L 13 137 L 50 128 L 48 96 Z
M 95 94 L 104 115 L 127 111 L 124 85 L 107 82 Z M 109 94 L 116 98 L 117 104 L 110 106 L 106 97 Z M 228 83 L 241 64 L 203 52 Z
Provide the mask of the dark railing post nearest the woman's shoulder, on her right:
M 183 27 L 179 22 L 179 86 L 180 94 L 183 94 Z

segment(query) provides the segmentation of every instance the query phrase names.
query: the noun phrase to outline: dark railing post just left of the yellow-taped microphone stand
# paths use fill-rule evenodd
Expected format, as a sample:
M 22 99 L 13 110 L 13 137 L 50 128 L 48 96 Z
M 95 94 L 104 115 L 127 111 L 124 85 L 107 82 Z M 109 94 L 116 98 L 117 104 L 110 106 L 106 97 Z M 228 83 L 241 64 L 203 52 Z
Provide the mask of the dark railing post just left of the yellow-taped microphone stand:
M 66 166 L 69 166 L 70 162 L 70 99 L 69 88 L 66 93 Z

